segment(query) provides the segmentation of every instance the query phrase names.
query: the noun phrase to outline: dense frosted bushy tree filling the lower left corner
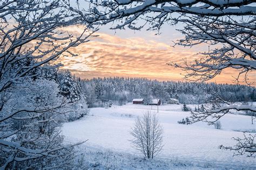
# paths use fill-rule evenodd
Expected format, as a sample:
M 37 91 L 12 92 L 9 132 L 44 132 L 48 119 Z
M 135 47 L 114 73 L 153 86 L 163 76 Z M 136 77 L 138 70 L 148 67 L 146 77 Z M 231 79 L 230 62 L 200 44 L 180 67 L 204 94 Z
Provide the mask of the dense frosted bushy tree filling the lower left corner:
M 70 107 L 58 92 L 56 82 L 44 79 L 16 84 L 0 112 L 2 167 L 58 168 L 70 162 L 72 147 L 62 144 L 58 128 Z

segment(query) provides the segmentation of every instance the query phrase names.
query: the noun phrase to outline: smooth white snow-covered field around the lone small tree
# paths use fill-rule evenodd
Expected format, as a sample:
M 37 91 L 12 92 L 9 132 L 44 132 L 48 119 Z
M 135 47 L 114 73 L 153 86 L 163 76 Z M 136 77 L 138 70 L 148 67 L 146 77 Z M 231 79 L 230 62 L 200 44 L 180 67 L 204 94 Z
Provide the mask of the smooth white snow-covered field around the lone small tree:
M 194 108 L 193 105 L 188 106 Z M 126 158 L 130 158 L 128 155 L 142 157 L 143 155 L 130 145 L 129 139 L 132 139 L 130 129 L 137 116 L 142 116 L 144 112 L 151 111 L 157 113 L 164 128 L 164 148 L 156 159 L 169 163 L 167 167 L 159 165 L 161 168 L 170 168 L 169 164 L 173 160 L 181 165 L 186 162 L 184 164 L 190 166 L 210 168 L 256 168 L 256 159 L 246 158 L 246 155 L 233 157 L 232 151 L 218 148 L 219 145 L 233 146 L 235 141 L 231 138 L 242 137 L 243 133 L 240 131 L 255 131 L 256 125 L 251 124 L 250 116 L 225 115 L 220 119 L 222 129 L 218 130 L 214 129 L 213 125 L 207 125 L 203 122 L 192 125 L 178 124 L 177 122 L 182 118 L 190 116 L 190 112 L 181 111 L 181 107 L 182 105 L 175 104 L 160 105 L 158 113 L 157 106 L 152 106 L 151 110 L 150 105 L 131 103 L 123 106 L 114 105 L 108 109 L 92 108 L 88 116 L 75 122 L 65 123 L 63 134 L 67 143 L 77 143 L 89 139 L 80 147 L 86 148 L 86 153 L 90 152 L 88 155 L 95 155 L 97 158 L 99 158 L 98 153 L 104 155 L 107 152 L 126 155 L 124 156 Z M 166 164 L 164 163 L 164 165 Z M 129 167 L 126 165 L 123 168 Z

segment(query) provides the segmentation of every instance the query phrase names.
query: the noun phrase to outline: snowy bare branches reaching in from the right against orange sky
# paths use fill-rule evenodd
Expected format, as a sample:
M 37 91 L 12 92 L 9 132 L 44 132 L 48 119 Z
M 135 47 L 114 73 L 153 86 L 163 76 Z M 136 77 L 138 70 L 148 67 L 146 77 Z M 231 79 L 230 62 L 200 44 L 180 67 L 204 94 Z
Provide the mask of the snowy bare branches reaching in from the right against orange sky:
M 185 60 L 179 64 L 171 62 L 169 65 L 185 70 L 185 77 L 193 81 L 211 80 L 224 69 L 232 68 L 237 70 L 237 83 L 241 75 L 244 75 L 245 83 L 253 83 L 248 81 L 248 74 L 253 74 L 256 69 L 254 17 L 247 17 L 247 20 L 191 17 L 176 21 L 187 24 L 179 30 L 185 38 L 179 40 L 177 45 L 192 47 L 207 43 L 214 48 L 200 53 L 202 57 L 199 60 Z

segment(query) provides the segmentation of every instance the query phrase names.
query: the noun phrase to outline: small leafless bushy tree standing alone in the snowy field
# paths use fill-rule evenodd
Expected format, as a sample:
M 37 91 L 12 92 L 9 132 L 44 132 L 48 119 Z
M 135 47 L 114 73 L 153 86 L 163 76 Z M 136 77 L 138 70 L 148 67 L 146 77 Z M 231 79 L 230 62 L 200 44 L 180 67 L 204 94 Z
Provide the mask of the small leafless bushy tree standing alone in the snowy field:
M 145 158 L 153 159 L 163 148 L 163 128 L 156 114 L 146 112 L 143 117 L 137 117 L 131 134 L 132 147 L 142 152 Z

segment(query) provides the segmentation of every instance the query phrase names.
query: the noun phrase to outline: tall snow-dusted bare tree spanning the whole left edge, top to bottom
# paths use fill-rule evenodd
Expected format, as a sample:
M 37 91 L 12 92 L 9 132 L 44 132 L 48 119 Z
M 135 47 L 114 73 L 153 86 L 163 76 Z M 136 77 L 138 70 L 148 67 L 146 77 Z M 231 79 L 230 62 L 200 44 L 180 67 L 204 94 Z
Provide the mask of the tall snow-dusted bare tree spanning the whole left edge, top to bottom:
M 41 75 L 60 56 L 77 55 L 69 49 L 94 32 L 84 24 L 68 1 L 0 2 L 0 169 L 70 166 L 72 147 L 58 129 L 68 105 Z M 71 25 L 82 33 L 69 33 Z

